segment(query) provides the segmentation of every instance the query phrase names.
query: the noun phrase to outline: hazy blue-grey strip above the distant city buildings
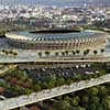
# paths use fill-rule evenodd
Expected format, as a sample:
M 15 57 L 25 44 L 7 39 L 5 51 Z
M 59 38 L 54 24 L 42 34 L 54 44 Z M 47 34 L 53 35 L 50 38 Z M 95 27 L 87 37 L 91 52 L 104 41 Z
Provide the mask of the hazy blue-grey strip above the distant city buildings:
M 56 7 L 82 7 L 87 6 L 103 6 L 109 7 L 110 0 L 0 0 L 1 6 L 16 4 L 40 4 L 40 6 L 56 6 Z

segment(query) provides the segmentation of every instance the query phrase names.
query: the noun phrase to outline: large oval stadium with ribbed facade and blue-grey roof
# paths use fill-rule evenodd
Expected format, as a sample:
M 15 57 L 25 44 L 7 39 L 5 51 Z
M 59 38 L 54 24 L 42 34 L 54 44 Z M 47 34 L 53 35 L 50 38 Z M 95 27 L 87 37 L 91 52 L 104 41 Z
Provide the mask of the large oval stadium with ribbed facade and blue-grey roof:
M 105 48 L 103 32 L 84 31 L 68 33 L 11 32 L 6 34 L 8 43 L 18 48 L 37 51 L 72 51 Z

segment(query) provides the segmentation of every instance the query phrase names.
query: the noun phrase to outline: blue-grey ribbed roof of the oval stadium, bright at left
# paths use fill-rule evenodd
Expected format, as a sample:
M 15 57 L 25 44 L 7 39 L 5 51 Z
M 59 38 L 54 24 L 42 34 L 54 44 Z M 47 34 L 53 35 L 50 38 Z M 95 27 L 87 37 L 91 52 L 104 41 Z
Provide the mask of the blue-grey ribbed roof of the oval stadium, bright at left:
M 79 37 L 96 37 L 100 36 L 102 33 L 98 32 L 70 32 L 70 33 L 31 33 L 28 31 L 23 32 L 12 32 L 8 33 L 7 37 L 10 38 L 20 38 L 20 40 L 28 40 L 28 41 L 63 41 L 63 40 L 72 40 L 72 38 L 79 38 Z

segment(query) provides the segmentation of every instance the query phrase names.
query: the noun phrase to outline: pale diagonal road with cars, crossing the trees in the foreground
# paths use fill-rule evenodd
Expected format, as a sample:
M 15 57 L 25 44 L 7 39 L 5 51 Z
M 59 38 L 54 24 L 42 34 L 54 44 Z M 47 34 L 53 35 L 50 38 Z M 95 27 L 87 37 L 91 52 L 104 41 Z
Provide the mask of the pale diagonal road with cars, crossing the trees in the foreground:
M 51 99 L 61 95 L 74 92 L 92 86 L 110 82 L 110 74 L 103 75 L 99 78 L 91 78 L 90 80 L 82 80 L 74 82 L 69 86 L 65 85 L 53 89 L 42 90 L 40 92 L 33 92 L 30 96 L 20 96 L 0 101 L 0 110 L 10 110 L 18 107 L 35 103 L 46 99 Z

